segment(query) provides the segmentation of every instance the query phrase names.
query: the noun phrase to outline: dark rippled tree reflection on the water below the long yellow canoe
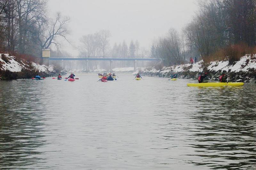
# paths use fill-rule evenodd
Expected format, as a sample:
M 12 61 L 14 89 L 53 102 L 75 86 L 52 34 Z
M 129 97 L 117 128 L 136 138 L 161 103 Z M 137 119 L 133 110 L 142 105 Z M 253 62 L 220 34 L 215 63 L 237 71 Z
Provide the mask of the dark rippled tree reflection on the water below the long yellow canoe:
M 253 169 L 256 162 L 255 89 L 200 88 L 196 94 L 198 111 L 193 115 L 193 156 L 195 165 L 213 169 Z M 198 126 L 199 125 L 199 126 Z

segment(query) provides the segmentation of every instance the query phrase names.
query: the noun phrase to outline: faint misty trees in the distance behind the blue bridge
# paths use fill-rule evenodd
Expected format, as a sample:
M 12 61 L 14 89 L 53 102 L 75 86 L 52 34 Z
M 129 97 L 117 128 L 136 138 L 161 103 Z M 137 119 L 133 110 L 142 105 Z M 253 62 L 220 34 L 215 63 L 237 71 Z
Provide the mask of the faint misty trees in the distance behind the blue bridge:
M 131 40 L 129 46 L 124 40 L 122 43 L 110 45 L 111 33 L 109 30 L 100 30 L 94 34 L 87 34 L 80 38 L 79 55 L 84 57 L 112 57 L 136 58 L 148 57 L 150 54 L 145 48 L 140 48 L 138 40 Z M 106 64 L 107 63 L 107 64 Z M 84 63 L 82 63 L 84 65 Z M 133 61 L 113 61 L 113 67 L 133 67 Z M 140 66 L 144 63 L 139 63 Z M 90 69 L 106 68 L 108 62 L 91 61 Z

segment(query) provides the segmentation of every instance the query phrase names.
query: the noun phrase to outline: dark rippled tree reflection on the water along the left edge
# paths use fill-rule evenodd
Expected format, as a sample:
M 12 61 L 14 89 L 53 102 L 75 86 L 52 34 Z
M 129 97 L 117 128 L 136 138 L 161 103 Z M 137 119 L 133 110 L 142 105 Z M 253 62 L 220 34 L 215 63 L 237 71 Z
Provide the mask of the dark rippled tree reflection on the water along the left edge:
M 0 165 L 13 169 L 20 166 L 44 163 L 34 155 L 44 145 L 42 131 L 44 114 L 42 96 L 32 97 L 34 90 L 17 81 L 1 82 L 0 94 Z M 26 90 L 24 90 L 26 89 Z M 38 107 L 35 107 L 38 106 Z

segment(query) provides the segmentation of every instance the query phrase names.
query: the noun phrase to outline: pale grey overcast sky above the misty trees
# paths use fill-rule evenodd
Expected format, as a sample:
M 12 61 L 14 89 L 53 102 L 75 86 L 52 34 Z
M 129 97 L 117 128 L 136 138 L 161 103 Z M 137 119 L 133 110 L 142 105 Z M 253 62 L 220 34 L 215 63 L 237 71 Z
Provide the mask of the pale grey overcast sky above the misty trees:
M 197 9 L 196 0 L 49 0 L 50 16 L 57 11 L 71 18 L 70 41 L 79 46 L 79 39 L 101 29 L 111 32 L 111 46 L 117 42 L 140 42 L 150 49 L 154 39 L 171 27 L 181 31 Z M 65 43 L 65 50 L 78 55 Z

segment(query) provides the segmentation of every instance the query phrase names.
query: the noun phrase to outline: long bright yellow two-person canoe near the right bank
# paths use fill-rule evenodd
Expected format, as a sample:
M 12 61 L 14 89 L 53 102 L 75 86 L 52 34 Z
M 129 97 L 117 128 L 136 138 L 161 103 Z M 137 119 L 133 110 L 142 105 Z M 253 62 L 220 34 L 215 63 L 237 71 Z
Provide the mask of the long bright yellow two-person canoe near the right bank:
M 188 83 L 190 87 L 221 87 L 221 86 L 243 86 L 243 82 L 229 82 L 229 83 L 221 83 L 221 82 L 211 82 L 211 83 Z

